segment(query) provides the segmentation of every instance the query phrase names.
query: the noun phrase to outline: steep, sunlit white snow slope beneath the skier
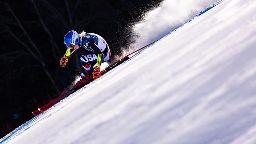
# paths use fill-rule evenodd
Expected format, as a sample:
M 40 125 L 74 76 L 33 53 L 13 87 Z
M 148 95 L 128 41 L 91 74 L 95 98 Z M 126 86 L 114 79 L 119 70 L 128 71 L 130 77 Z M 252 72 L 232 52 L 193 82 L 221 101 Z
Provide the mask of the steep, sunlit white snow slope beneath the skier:
M 255 14 L 225 0 L 0 141 L 255 144 Z

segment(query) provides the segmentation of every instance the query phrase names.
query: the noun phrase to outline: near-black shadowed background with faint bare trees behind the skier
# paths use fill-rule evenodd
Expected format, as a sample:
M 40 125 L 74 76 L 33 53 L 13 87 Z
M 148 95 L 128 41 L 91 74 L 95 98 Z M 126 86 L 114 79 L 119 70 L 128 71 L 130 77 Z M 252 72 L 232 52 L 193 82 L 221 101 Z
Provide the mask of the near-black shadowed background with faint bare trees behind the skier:
M 132 25 L 161 1 L 0 2 L 0 138 L 33 118 L 32 111 L 58 97 L 79 74 L 83 49 L 71 56 L 65 68 L 59 65 L 68 31 L 101 35 L 110 46 L 111 61 L 129 45 Z

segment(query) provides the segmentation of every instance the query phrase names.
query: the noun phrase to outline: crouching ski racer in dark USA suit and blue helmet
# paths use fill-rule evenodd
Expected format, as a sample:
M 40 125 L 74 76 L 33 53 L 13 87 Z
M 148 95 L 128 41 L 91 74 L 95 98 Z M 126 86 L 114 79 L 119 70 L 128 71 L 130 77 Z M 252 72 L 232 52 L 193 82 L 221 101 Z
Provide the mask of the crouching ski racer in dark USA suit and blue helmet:
M 78 34 L 76 31 L 69 31 L 64 37 L 64 44 L 68 49 L 60 59 L 60 66 L 66 66 L 69 56 L 80 47 L 86 49 L 86 54 L 80 56 L 81 77 L 82 79 L 76 84 L 80 86 L 89 82 L 92 78 L 100 78 L 101 63 L 110 59 L 110 48 L 107 42 L 101 36 L 95 33 L 86 33 L 82 31 Z M 96 65 L 96 66 L 95 66 Z M 94 68 L 95 66 L 95 68 Z

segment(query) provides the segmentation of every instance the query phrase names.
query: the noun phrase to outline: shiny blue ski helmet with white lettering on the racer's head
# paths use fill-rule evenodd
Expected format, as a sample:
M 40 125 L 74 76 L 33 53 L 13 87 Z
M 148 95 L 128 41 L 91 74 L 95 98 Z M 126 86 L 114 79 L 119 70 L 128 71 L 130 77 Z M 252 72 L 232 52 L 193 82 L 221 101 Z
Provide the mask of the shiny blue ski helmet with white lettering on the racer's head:
M 64 44 L 66 47 L 70 48 L 70 44 L 79 44 L 79 40 L 79 35 L 76 31 L 69 31 L 64 37 Z

